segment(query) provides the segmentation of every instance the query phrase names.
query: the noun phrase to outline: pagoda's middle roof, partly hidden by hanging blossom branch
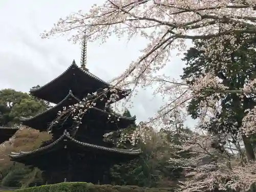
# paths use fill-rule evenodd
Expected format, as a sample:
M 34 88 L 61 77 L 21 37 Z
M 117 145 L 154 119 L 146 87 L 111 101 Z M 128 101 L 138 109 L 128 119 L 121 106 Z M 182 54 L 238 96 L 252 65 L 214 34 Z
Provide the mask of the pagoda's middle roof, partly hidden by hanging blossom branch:
M 21 118 L 20 121 L 23 122 L 24 125 L 32 127 L 36 130 L 40 131 L 46 131 L 49 128 L 49 125 L 55 120 L 57 117 L 57 113 L 63 109 L 64 106 L 69 106 L 73 105 L 77 102 L 80 102 L 78 98 L 76 98 L 71 91 L 69 91 L 69 94 L 58 104 L 53 106 L 52 108 L 39 113 L 35 115 L 34 117 L 30 118 Z M 108 128 L 108 130 L 111 131 L 116 131 L 118 129 L 126 128 L 130 124 L 134 123 L 136 120 L 136 116 L 134 117 L 118 117 L 119 120 L 116 121 L 115 123 L 112 123 L 109 120 L 109 117 L 117 118 L 116 115 L 106 112 L 104 110 L 100 110 L 98 108 L 90 108 L 86 112 L 86 114 L 83 116 L 82 122 L 88 123 L 91 120 L 96 120 L 96 123 L 99 123 L 100 121 L 104 123 L 104 128 Z M 73 120 L 72 120 L 73 122 Z M 71 123 L 73 124 L 73 123 Z M 96 126 L 96 125 L 95 125 Z M 59 127 L 58 127 L 59 128 Z M 67 126 L 65 126 L 64 129 L 67 129 Z M 95 129 L 95 127 L 94 127 Z M 54 134 L 54 131 L 52 132 Z

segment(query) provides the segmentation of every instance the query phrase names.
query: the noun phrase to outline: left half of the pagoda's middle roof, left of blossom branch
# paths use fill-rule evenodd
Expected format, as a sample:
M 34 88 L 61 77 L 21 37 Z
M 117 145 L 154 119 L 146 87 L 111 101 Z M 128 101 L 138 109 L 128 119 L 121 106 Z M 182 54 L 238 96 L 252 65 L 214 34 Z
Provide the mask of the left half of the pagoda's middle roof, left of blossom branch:
M 58 104 L 52 106 L 52 108 L 30 118 L 22 117 L 20 118 L 20 121 L 22 121 L 24 125 L 34 129 L 46 131 L 48 129 L 49 123 L 51 123 L 57 117 L 57 113 L 61 111 L 63 107 L 73 105 L 77 102 L 80 102 L 80 100 L 75 97 L 70 90 L 68 95 Z

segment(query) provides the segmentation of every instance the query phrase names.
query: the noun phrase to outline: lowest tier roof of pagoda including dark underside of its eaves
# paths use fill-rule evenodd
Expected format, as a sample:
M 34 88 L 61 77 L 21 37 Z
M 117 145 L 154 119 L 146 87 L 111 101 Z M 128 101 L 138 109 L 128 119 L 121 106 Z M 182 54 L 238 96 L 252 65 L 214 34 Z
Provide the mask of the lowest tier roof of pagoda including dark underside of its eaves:
M 99 146 L 95 144 L 90 143 L 84 143 L 80 142 L 70 136 L 70 134 L 65 130 L 63 132 L 63 135 L 61 135 L 56 141 L 53 143 L 46 145 L 44 147 L 39 147 L 36 150 L 29 151 L 29 152 L 23 152 L 20 151 L 18 153 L 12 152 L 9 156 L 13 161 L 19 161 L 23 162 L 26 161 L 26 159 L 30 159 L 35 156 L 41 156 L 46 155 L 49 152 L 58 151 L 60 148 L 68 148 L 69 146 L 72 148 L 80 148 L 80 151 L 82 153 L 87 153 L 87 151 L 94 151 L 95 153 L 108 153 L 108 154 L 118 154 L 118 155 L 129 155 L 129 156 L 138 156 L 141 154 L 141 150 L 122 150 L 119 148 L 111 148 L 111 147 L 105 147 L 105 146 Z

